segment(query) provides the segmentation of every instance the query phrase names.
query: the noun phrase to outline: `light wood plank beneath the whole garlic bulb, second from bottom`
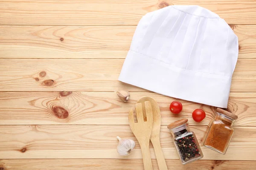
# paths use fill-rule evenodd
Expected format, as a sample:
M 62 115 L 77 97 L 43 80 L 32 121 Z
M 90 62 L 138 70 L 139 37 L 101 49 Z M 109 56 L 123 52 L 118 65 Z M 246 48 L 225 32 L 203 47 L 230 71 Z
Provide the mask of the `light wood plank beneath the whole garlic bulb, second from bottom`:
M 207 126 L 190 126 L 198 141 Z M 235 127 L 225 155 L 201 147 L 205 160 L 256 161 L 256 127 Z M 137 139 L 128 125 L 28 125 L 0 126 L 0 159 L 142 159 Z M 116 151 L 118 140 L 133 139 L 136 147 L 129 156 Z M 161 127 L 160 143 L 166 159 L 178 159 L 171 133 Z M 150 143 L 150 155 L 156 159 Z

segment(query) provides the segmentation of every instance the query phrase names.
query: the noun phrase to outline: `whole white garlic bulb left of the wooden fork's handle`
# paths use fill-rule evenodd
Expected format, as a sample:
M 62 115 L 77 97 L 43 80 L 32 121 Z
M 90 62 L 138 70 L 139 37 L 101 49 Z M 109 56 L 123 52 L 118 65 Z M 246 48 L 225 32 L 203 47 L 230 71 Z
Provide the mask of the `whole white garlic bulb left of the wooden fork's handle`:
M 119 140 L 117 152 L 122 156 L 129 155 L 135 147 L 135 142 L 131 139 L 121 139 L 119 136 L 116 136 L 116 138 Z

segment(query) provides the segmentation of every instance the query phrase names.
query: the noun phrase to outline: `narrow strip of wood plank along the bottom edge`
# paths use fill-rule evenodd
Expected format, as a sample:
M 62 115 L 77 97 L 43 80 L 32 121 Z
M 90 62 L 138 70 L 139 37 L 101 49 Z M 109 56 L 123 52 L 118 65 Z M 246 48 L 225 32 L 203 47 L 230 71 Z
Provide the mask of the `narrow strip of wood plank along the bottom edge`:
M 252 170 L 256 161 L 198 160 L 181 165 L 179 160 L 166 160 L 169 170 Z M 159 170 L 152 160 L 153 169 Z M 3 170 L 143 170 L 141 159 L 17 159 L 0 160 Z

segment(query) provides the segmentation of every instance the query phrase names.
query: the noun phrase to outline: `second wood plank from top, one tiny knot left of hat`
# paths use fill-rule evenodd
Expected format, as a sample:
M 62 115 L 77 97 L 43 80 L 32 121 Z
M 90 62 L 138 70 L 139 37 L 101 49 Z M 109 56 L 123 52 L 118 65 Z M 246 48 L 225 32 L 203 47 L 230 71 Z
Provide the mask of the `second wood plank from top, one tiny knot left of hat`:
M 256 58 L 256 26 L 230 26 Z M 0 26 L 0 58 L 125 58 L 136 26 Z

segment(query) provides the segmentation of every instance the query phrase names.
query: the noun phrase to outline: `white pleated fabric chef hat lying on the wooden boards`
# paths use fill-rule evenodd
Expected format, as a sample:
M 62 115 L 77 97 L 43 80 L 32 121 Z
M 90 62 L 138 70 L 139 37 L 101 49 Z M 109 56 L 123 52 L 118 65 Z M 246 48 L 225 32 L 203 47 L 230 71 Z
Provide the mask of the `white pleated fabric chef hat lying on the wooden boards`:
M 200 6 L 168 6 L 140 20 L 119 80 L 159 94 L 227 108 L 238 38 Z

